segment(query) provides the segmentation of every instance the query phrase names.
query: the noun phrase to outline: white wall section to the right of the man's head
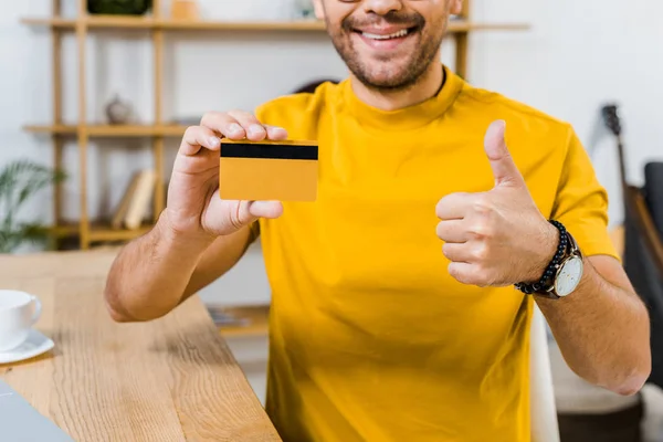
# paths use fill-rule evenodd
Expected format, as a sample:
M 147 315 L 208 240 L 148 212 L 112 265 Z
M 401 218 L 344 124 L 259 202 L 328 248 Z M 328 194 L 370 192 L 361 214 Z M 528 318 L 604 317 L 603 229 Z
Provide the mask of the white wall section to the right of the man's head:
M 593 149 L 608 188 L 612 223 L 621 221 L 614 144 L 596 133 L 600 106 L 615 101 L 624 123 L 628 178 L 663 160 L 663 2 L 660 0 L 475 0 L 476 15 L 527 21 L 528 33 L 476 34 L 472 81 L 573 124 Z

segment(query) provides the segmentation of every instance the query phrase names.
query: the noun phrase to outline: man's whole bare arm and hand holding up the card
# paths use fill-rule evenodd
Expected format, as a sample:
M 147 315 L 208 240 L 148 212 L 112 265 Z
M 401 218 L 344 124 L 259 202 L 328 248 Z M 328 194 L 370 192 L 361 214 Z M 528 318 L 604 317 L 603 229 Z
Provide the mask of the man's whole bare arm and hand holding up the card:
M 116 257 L 105 299 L 117 322 L 149 320 L 230 270 L 253 239 L 259 218 L 278 218 L 278 201 L 221 200 L 219 134 L 231 139 L 284 139 L 280 127 L 244 112 L 207 114 L 187 129 L 175 159 L 166 210 L 155 228 Z

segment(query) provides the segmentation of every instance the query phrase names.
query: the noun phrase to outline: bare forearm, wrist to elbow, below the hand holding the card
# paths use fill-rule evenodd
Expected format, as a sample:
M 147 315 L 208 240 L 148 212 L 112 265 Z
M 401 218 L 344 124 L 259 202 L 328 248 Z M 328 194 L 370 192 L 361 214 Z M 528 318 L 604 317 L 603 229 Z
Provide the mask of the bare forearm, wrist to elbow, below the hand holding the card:
M 164 212 L 150 232 L 126 244 L 110 267 L 105 298 L 115 320 L 150 320 L 175 308 L 213 241 L 173 234 L 166 217 Z

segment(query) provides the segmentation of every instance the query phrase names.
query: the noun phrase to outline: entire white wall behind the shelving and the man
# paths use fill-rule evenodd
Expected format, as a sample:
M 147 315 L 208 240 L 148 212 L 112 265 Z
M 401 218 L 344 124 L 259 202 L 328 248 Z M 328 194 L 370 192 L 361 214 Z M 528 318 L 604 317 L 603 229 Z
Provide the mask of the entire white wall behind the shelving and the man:
M 286 19 L 293 0 L 200 0 L 206 18 Z M 64 0 L 69 11 L 75 0 Z M 23 124 L 51 118 L 51 45 L 48 33 L 20 23 L 22 17 L 48 15 L 50 0 L 7 2 L 0 14 L 0 164 L 19 156 L 49 162 L 48 138 L 21 130 Z M 165 6 L 167 9 L 167 4 Z M 642 178 L 645 160 L 663 157 L 663 2 L 656 0 L 474 0 L 481 21 L 528 22 L 528 32 L 485 32 L 471 41 L 471 81 L 503 92 L 571 122 L 593 146 L 596 119 L 603 102 L 623 108 L 629 176 Z M 141 122 L 154 114 L 151 49 L 147 33 L 95 34 L 87 44 L 87 118 L 98 122 L 115 93 L 129 97 Z M 451 52 L 444 51 L 445 60 Z M 167 38 L 165 117 L 193 116 L 209 109 L 253 108 L 264 99 L 288 93 L 318 76 L 344 76 L 345 66 L 323 34 L 210 33 Z M 73 36 L 65 41 L 65 108 L 67 122 L 77 118 L 76 52 Z M 178 140 L 168 143 L 170 166 Z M 129 171 L 149 165 L 148 144 L 105 140 L 90 152 L 93 217 L 117 203 Z M 617 168 L 609 138 L 598 140 L 596 164 L 609 188 L 614 222 L 621 218 Z M 72 175 L 65 190 L 65 215 L 78 215 L 77 156 L 70 145 L 65 161 Z M 50 218 L 50 194 L 32 204 L 30 217 Z M 233 273 L 244 281 L 261 264 L 260 253 Z M 249 259 L 251 260 L 251 257 Z M 266 281 L 256 287 L 266 291 Z M 234 283 L 233 283 L 234 284 Z M 255 291 L 254 291 L 255 292 Z M 253 293 L 253 292 L 252 292 Z

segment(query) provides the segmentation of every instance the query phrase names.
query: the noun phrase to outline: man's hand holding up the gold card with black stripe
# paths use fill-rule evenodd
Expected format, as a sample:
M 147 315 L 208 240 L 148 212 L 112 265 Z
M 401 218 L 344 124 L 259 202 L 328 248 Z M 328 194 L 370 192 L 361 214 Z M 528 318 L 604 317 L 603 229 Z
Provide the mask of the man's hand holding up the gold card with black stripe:
M 282 140 L 287 131 L 261 124 L 242 110 L 206 114 L 185 133 L 168 188 L 166 221 L 171 233 L 215 238 L 236 232 L 259 218 L 277 218 L 278 201 L 231 201 L 219 198 L 220 137 Z

